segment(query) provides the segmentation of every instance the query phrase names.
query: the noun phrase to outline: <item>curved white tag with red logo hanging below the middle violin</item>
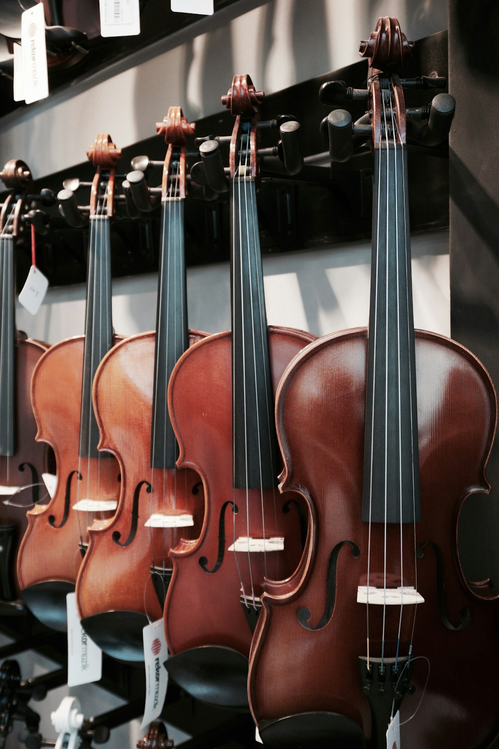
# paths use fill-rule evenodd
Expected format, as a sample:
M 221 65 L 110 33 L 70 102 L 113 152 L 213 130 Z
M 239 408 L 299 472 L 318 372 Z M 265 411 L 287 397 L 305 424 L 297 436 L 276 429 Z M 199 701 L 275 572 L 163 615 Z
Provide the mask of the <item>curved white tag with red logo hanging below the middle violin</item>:
M 144 627 L 142 636 L 146 668 L 146 701 L 141 729 L 159 718 L 168 686 L 168 671 L 163 666 L 168 658 L 163 620 L 158 619 L 157 622 Z

